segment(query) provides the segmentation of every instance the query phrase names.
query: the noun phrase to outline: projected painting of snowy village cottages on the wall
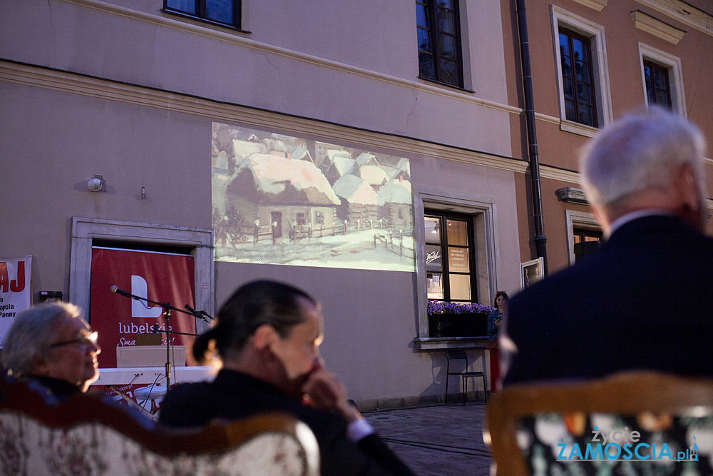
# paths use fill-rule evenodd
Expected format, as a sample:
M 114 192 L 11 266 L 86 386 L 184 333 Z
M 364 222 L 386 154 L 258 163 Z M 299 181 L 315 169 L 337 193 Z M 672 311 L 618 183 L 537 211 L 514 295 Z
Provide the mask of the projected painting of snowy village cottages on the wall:
M 212 124 L 215 260 L 415 270 L 409 160 Z

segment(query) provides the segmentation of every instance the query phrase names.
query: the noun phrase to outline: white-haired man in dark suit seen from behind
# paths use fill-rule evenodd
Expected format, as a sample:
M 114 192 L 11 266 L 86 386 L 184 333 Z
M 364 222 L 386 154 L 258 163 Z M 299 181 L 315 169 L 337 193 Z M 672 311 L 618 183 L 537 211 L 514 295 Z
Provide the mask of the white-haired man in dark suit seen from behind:
M 517 349 L 504 385 L 632 369 L 713 375 L 703 153 L 695 126 L 658 109 L 590 141 L 583 183 L 608 239 L 511 300 Z

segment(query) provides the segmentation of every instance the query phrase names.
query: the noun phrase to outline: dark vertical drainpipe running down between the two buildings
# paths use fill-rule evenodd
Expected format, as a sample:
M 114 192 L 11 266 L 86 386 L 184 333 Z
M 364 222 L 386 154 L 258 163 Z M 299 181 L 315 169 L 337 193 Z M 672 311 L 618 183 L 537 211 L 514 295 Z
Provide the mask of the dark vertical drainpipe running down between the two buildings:
M 540 161 L 537 151 L 537 132 L 535 131 L 535 103 L 533 101 L 533 77 L 530 70 L 530 46 L 528 43 L 528 21 L 525 16 L 525 0 L 517 0 L 518 33 L 520 34 L 520 58 L 523 63 L 523 88 L 525 93 L 525 122 L 528 130 L 528 155 L 530 176 L 533 189 L 533 218 L 535 219 L 535 249 L 538 258 L 545 263 L 543 276 L 547 273 L 547 249 L 545 243 L 545 222 L 542 215 L 542 192 L 540 191 Z

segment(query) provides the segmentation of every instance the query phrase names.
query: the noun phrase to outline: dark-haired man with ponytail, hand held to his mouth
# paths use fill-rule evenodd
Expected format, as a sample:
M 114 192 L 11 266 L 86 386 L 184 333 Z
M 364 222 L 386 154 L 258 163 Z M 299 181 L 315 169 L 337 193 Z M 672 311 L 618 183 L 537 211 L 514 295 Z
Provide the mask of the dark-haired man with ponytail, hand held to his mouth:
M 324 368 L 320 343 L 317 301 L 282 283 L 248 283 L 222 306 L 215 328 L 193 345 L 199 361 L 215 345 L 223 363 L 217 378 L 171 390 L 159 422 L 195 426 L 281 410 L 314 432 L 322 475 L 412 475 Z

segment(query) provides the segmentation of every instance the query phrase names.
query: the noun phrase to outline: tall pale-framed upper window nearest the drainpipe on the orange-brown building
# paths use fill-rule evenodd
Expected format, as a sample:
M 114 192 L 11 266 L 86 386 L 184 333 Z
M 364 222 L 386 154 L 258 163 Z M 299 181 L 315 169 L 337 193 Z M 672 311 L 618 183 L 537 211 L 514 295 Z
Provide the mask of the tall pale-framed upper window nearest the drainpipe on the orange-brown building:
M 612 121 L 604 27 L 551 5 L 563 131 L 594 136 Z

